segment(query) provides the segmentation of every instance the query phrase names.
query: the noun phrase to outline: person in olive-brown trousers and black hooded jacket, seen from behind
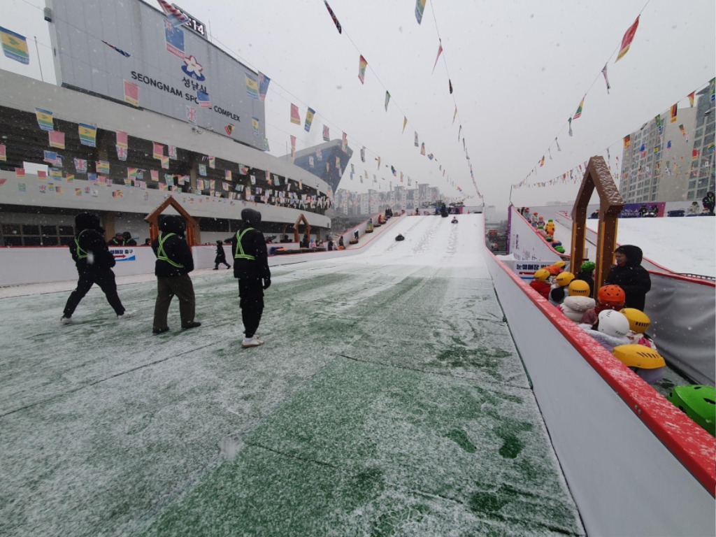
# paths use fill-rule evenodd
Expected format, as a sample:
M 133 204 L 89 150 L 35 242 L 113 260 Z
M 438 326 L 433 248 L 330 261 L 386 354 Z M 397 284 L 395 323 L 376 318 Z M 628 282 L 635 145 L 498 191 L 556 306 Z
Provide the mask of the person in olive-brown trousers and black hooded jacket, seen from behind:
M 184 221 L 181 216 L 167 215 L 159 221 L 159 236 L 152 249 L 157 261 L 157 302 L 154 306 L 153 334 L 169 330 L 167 315 L 174 295 L 179 299 L 179 315 L 183 330 L 196 328 L 201 323 L 194 320 L 196 301 L 194 286 L 189 273 L 194 270 L 194 258 L 184 237 Z

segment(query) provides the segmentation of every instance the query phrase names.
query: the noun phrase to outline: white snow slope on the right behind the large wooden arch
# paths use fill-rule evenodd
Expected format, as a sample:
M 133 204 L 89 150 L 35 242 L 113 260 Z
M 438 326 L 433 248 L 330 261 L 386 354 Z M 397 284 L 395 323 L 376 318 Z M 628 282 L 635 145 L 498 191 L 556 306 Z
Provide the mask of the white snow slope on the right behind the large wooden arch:
M 556 216 L 555 237 L 569 252 L 571 220 Z M 596 233 L 596 219 L 586 221 Z M 565 226 L 564 224 L 567 224 Z M 616 242 L 635 244 L 644 257 L 679 274 L 716 277 L 716 218 L 621 218 L 616 228 Z M 594 244 L 589 244 L 595 252 Z M 594 255 L 593 255 L 594 257 Z

